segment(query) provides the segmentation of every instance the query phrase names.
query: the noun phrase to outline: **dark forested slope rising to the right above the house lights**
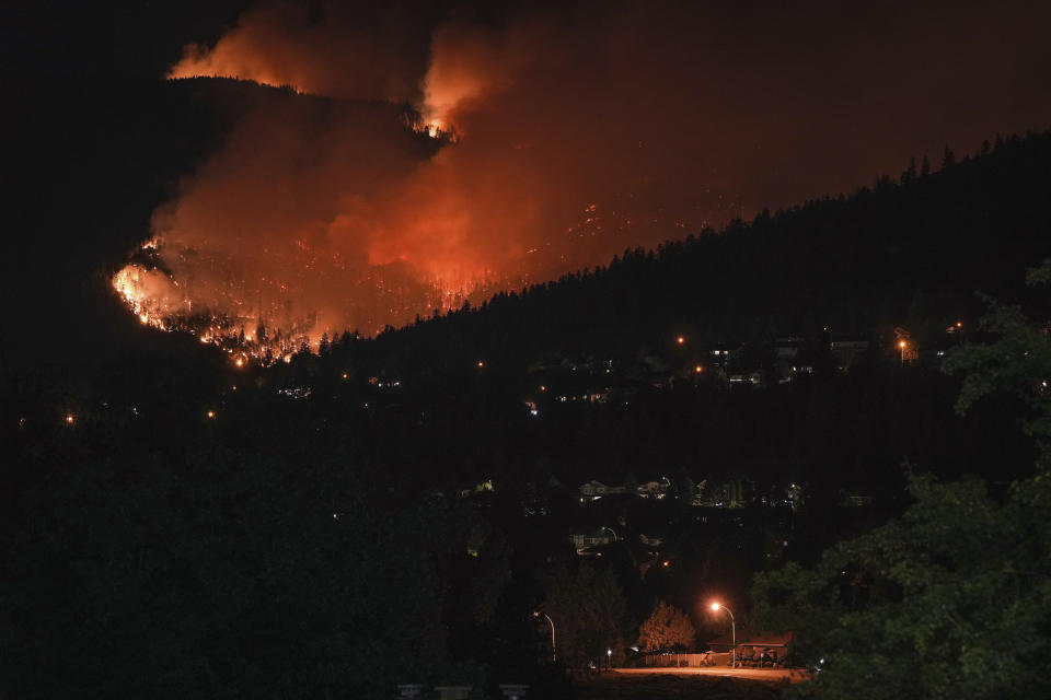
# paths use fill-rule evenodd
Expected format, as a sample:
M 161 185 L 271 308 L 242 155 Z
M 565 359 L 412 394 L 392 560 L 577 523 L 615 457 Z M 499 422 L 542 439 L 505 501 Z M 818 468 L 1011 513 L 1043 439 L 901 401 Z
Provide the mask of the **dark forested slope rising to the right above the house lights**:
M 679 334 L 717 345 L 778 335 L 923 339 L 982 308 L 974 292 L 1025 295 L 1051 255 L 1051 132 L 997 138 L 972 159 L 628 250 L 609 266 L 499 294 L 483 308 L 374 342 L 413 366 L 464 349 L 494 357 L 631 354 Z

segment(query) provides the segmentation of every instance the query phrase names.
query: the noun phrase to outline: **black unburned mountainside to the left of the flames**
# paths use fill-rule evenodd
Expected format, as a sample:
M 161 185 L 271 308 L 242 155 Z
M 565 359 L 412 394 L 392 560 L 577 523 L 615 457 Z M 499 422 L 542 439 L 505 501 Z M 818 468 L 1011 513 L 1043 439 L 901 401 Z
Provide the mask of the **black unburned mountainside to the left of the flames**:
M 234 126 L 261 107 L 323 129 L 336 119 L 404 130 L 405 105 L 337 101 L 229 79 L 9 80 L 0 117 L 5 207 L 0 345 L 16 366 L 113 358 L 152 342 L 111 276 L 151 217 Z M 406 140 L 412 140 L 409 135 Z M 417 156 L 434 148 L 414 141 Z M 69 342 L 42 342 L 59 335 Z

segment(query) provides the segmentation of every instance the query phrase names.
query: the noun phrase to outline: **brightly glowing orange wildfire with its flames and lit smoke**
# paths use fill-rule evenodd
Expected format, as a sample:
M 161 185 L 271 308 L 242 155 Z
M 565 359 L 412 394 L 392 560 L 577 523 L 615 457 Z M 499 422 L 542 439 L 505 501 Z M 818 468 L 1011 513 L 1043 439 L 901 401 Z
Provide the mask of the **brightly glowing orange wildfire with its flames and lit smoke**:
M 142 326 L 236 368 L 290 362 L 326 335 L 476 306 L 702 220 L 692 183 L 689 201 L 655 205 L 667 180 L 639 173 L 659 173 L 662 151 L 635 139 L 643 126 L 625 138 L 615 119 L 577 118 L 599 104 L 563 92 L 596 86 L 588 51 L 563 52 L 543 22 L 440 24 L 412 57 L 374 40 L 397 26 L 362 28 L 336 5 L 259 5 L 171 69 L 326 100 L 259 101 L 158 208 L 157 235 L 113 278 Z

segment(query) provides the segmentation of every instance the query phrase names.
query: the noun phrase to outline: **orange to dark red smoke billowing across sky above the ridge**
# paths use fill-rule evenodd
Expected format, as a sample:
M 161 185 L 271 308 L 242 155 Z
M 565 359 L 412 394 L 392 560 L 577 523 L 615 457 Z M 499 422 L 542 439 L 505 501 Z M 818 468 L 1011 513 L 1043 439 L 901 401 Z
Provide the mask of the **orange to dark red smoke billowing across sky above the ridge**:
M 261 4 L 171 77 L 334 101 L 244 118 L 157 211 L 164 272 L 115 283 L 164 327 L 371 334 L 1046 126 L 1049 57 L 1039 22 L 966 9 Z

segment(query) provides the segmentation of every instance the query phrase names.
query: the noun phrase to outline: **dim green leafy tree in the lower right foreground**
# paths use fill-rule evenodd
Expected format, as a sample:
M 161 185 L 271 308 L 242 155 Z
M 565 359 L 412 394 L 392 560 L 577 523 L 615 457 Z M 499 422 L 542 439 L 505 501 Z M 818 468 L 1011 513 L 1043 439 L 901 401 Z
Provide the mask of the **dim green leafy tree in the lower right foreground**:
M 1051 264 L 1030 284 L 1051 280 Z M 1029 409 L 1036 474 L 998 498 L 978 479 L 910 475 L 911 508 L 827 551 L 812 569 L 757 578 L 759 617 L 797 632 L 820 669 L 816 698 L 1051 697 L 1051 340 L 1017 307 L 991 305 L 990 345 L 946 363 L 965 375 L 957 410 L 1006 390 Z

